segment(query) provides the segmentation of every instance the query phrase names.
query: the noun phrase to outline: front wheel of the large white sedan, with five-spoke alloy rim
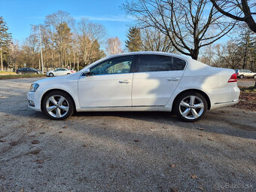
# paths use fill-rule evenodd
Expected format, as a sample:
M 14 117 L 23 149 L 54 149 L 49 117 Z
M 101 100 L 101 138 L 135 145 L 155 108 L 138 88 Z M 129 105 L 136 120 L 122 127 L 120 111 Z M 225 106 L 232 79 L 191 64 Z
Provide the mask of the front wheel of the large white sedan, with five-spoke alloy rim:
M 52 120 L 64 120 L 70 117 L 74 112 L 74 107 L 75 104 L 71 96 L 59 90 L 44 96 L 42 103 L 44 114 Z

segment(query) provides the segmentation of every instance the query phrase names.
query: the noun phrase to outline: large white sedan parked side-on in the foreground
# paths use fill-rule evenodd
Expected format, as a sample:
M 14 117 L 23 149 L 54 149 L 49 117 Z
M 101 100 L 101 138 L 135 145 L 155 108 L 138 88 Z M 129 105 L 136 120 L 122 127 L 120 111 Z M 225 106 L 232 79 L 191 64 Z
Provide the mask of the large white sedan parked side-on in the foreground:
M 172 53 L 133 52 L 108 56 L 80 72 L 36 81 L 29 107 L 53 120 L 74 111 L 175 111 L 199 120 L 207 110 L 238 102 L 233 69 L 207 66 Z

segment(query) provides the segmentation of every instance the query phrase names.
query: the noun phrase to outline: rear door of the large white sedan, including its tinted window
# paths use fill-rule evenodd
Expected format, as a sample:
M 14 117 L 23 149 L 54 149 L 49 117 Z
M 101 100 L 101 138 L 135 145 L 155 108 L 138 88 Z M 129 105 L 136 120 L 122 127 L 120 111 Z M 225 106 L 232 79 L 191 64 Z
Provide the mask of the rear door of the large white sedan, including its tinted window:
M 138 64 L 133 76 L 133 107 L 166 105 L 184 74 L 184 59 L 142 54 Z

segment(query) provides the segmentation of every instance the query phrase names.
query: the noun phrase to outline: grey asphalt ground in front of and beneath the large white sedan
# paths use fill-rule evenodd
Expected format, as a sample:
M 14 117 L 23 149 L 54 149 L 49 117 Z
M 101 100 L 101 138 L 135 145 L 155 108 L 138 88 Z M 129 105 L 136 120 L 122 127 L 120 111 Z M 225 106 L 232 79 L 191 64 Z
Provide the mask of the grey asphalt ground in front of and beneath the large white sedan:
M 256 114 L 86 112 L 27 107 L 35 79 L 0 81 L 0 191 L 255 191 Z

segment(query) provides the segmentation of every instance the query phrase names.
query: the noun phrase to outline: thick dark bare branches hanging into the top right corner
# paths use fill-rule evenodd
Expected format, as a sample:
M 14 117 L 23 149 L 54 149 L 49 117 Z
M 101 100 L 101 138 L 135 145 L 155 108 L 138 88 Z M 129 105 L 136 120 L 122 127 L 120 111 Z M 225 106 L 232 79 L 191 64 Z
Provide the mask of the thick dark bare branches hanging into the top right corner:
M 256 12 L 252 9 L 256 7 L 256 3 L 250 0 L 210 0 L 212 5 L 227 17 L 233 20 L 242 21 L 248 25 L 251 31 L 256 32 L 256 23 L 253 17 Z

